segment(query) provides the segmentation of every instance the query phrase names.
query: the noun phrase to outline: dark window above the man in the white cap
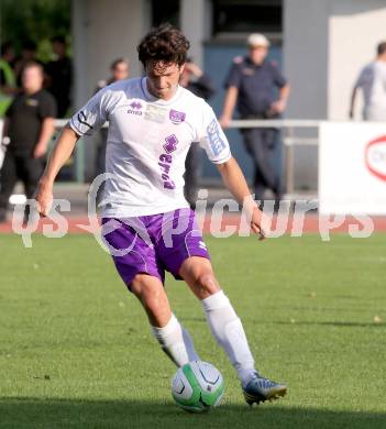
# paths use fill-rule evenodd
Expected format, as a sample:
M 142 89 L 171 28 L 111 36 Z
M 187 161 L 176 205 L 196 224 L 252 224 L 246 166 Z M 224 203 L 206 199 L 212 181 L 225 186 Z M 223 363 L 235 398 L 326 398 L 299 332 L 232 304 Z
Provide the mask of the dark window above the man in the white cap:
M 212 0 L 213 35 L 282 33 L 283 0 Z

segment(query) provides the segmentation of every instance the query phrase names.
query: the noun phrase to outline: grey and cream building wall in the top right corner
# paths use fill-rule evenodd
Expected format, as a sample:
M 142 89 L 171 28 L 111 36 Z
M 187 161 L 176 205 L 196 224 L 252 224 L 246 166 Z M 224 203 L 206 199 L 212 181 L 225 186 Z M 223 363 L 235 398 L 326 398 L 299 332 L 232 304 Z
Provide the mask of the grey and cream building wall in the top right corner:
M 385 0 L 284 0 L 284 72 L 291 86 L 286 118 L 348 120 L 352 87 L 386 38 L 385 22 Z M 317 189 L 317 147 L 296 148 L 296 187 Z

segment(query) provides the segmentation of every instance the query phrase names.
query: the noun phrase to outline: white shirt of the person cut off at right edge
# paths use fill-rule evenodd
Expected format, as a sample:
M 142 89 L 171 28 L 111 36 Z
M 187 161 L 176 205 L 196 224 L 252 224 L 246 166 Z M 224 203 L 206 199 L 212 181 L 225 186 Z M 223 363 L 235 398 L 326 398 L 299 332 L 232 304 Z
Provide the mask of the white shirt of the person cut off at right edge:
M 364 67 L 355 86 L 363 89 L 366 120 L 386 120 L 386 63 L 376 61 Z

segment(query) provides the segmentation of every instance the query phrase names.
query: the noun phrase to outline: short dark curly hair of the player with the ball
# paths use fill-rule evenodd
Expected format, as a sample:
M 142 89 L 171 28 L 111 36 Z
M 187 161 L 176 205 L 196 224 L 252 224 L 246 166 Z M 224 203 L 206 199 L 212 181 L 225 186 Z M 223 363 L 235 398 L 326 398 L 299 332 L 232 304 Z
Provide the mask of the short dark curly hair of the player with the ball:
M 175 63 L 181 66 L 186 63 L 190 43 L 183 32 L 166 23 L 152 29 L 137 45 L 139 59 L 146 67 L 150 61 Z

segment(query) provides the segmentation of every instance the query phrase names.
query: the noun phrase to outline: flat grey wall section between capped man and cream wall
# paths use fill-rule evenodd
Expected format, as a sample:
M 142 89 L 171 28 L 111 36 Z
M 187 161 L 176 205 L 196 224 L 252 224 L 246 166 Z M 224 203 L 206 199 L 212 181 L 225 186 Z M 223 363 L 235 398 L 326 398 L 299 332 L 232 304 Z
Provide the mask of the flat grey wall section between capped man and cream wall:
M 283 61 L 291 86 L 286 118 L 324 119 L 330 0 L 284 0 Z

